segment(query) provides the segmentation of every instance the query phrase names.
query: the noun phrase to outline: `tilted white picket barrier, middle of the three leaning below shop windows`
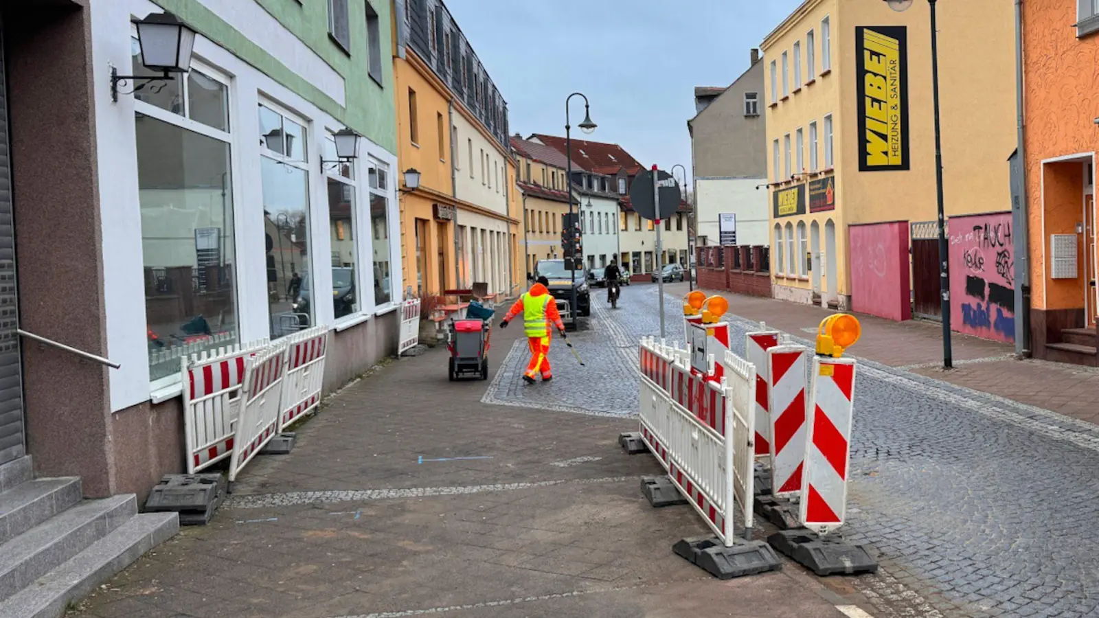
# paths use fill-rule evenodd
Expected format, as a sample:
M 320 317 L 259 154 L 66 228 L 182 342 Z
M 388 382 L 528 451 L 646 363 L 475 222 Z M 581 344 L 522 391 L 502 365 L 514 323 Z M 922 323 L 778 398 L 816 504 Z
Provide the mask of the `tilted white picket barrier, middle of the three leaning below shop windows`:
M 245 358 L 241 416 L 236 421 L 235 446 L 229 464 L 230 483 L 236 481 L 241 470 L 278 432 L 286 353 L 286 342 L 279 341 Z

